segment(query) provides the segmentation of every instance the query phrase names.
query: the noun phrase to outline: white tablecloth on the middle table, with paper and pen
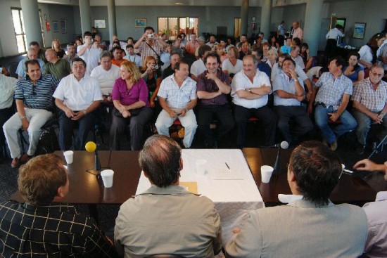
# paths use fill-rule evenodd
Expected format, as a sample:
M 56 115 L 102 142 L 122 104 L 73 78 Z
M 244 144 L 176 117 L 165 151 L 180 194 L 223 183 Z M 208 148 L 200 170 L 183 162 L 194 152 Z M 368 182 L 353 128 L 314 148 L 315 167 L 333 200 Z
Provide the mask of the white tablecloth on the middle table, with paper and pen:
M 182 158 L 180 181 L 196 181 L 198 193 L 215 202 L 222 221 L 223 243 L 232 236 L 232 229 L 241 228 L 249 210 L 265 207 L 241 150 L 183 150 Z M 195 172 L 195 161 L 198 159 L 208 161 L 204 175 Z M 242 180 L 215 180 L 214 177 L 222 172 L 240 174 L 238 177 Z M 136 194 L 143 193 L 150 186 L 151 183 L 141 173 Z

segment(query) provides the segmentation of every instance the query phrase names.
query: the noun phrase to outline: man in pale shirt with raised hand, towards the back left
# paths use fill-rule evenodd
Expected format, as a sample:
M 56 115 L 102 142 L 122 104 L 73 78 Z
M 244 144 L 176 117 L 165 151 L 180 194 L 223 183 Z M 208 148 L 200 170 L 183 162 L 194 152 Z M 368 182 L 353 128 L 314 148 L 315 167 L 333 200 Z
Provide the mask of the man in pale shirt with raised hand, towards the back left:
M 91 32 L 84 32 L 83 41 L 84 44 L 77 47 L 77 55 L 87 63 L 87 75 L 90 75 L 91 71 L 99 65 L 99 54 L 102 49 L 97 41 L 93 43 Z

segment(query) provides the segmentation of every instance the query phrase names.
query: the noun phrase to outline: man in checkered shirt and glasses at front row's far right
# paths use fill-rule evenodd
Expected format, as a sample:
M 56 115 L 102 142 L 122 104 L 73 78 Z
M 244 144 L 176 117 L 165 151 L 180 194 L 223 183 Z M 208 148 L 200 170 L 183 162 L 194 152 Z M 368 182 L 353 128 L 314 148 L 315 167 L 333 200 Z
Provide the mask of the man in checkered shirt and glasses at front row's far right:
M 356 136 L 359 145 L 356 152 L 364 153 L 369 127 L 372 123 L 382 124 L 384 129 L 377 136 L 382 141 L 387 135 L 387 83 L 381 78 L 383 67 L 374 65 L 369 71 L 369 77 L 355 86 L 353 91 L 353 116 L 357 121 Z

